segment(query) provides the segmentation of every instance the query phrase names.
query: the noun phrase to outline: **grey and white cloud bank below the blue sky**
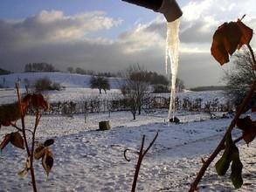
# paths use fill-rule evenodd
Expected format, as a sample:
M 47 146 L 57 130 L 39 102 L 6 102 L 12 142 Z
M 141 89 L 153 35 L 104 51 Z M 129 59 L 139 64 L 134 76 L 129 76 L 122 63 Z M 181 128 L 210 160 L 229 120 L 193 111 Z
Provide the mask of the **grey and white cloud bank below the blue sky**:
M 255 24 L 255 19 L 248 24 Z M 139 63 L 149 71 L 165 72 L 166 23 L 162 18 L 137 24 L 114 39 L 89 38 L 94 32 L 121 24 L 102 12 L 64 16 L 42 11 L 20 21 L 0 21 L 0 67 L 17 72 L 31 62 L 47 62 L 62 71 L 67 66 L 96 71 L 120 71 Z M 219 83 L 223 70 L 211 57 L 212 17 L 181 22 L 179 77 L 186 86 Z M 201 79 L 204 79 L 202 81 Z

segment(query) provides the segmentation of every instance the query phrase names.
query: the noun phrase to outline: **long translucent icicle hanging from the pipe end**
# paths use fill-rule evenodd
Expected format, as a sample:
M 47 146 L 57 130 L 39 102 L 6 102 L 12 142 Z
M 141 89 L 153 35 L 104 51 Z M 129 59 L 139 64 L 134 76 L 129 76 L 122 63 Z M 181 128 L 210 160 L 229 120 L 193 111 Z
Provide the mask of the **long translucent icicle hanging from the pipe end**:
M 167 23 L 167 38 L 166 38 L 166 58 L 165 69 L 168 72 L 168 58 L 170 58 L 171 70 L 171 91 L 170 91 L 170 106 L 168 118 L 175 116 L 175 98 L 176 98 L 176 76 L 178 69 L 179 57 L 179 25 L 180 19 Z

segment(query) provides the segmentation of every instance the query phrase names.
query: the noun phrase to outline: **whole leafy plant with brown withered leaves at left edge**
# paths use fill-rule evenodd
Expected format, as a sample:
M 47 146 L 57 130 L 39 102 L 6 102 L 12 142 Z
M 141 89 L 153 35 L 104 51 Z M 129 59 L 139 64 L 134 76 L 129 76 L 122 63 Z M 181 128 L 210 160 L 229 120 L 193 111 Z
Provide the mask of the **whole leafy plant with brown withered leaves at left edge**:
M 0 127 L 14 127 L 17 131 L 4 136 L 0 144 L 0 149 L 2 151 L 4 147 L 11 143 L 14 147 L 26 150 L 27 159 L 24 163 L 25 166 L 18 175 L 23 177 L 30 172 L 33 191 L 37 191 L 33 167 L 34 160 L 42 161 L 42 166 L 45 168 L 47 175 L 49 175 L 53 166 L 53 155 L 49 147 L 54 141 L 52 139 L 46 140 L 43 143 L 36 141 L 36 131 L 42 116 L 41 113 L 47 110 L 49 105 L 41 94 L 26 94 L 24 98 L 21 99 L 17 85 L 16 89 L 17 103 L 0 106 Z M 34 127 L 31 128 L 25 127 L 25 115 L 29 107 L 31 107 L 35 115 Z M 21 127 L 17 126 L 17 120 L 21 120 Z

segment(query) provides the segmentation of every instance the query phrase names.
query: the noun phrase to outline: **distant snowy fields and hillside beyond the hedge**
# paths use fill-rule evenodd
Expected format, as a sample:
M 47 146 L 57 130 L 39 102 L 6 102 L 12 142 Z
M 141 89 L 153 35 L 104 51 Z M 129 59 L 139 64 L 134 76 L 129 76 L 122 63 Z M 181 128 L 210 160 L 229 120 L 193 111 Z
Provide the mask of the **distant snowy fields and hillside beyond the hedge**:
M 60 86 L 66 87 L 62 91 L 45 92 L 44 95 L 49 102 L 54 101 L 80 101 L 88 97 L 101 97 L 101 98 L 115 98 L 120 95 L 119 87 L 123 79 L 109 78 L 109 84 L 111 90 L 107 91 L 107 94 L 99 94 L 99 90 L 90 89 L 89 81 L 90 75 L 80 75 L 71 74 L 63 72 L 22 72 L 22 73 L 12 73 L 9 75 L 0 76 L 0 85 L 7 86 L 7 89 L 0 89 L 0 105 L 11 103 L 17 100 L 17 93 L 14 89 L 15 83 L 19 83 L 21 87 L 21 93 L 25 93 L 24 86 L 25 82 L 28 80 L 35 82 L 35 80 L 40 78 L 49 78 L 52 82 L 59 83 Z M 3 81 L 4 79 L 4 81 Z M 27 79 L 27 80 L 26 80 Z M 4 82 L 4 84 L 3 84 Z M 155 96 L 169 98 L 169 93 L 154 94 Z M 189 92 L 189 93 L 177 93 L 176 95 L 179 99 L 187 98 L 198 99 L 201 98 L 206 101 L 212 101 L 213 99 L 218 99 L 220 104 L 225 104 L 225 95 L 221 91 L 211 91 L 211 92 Z

